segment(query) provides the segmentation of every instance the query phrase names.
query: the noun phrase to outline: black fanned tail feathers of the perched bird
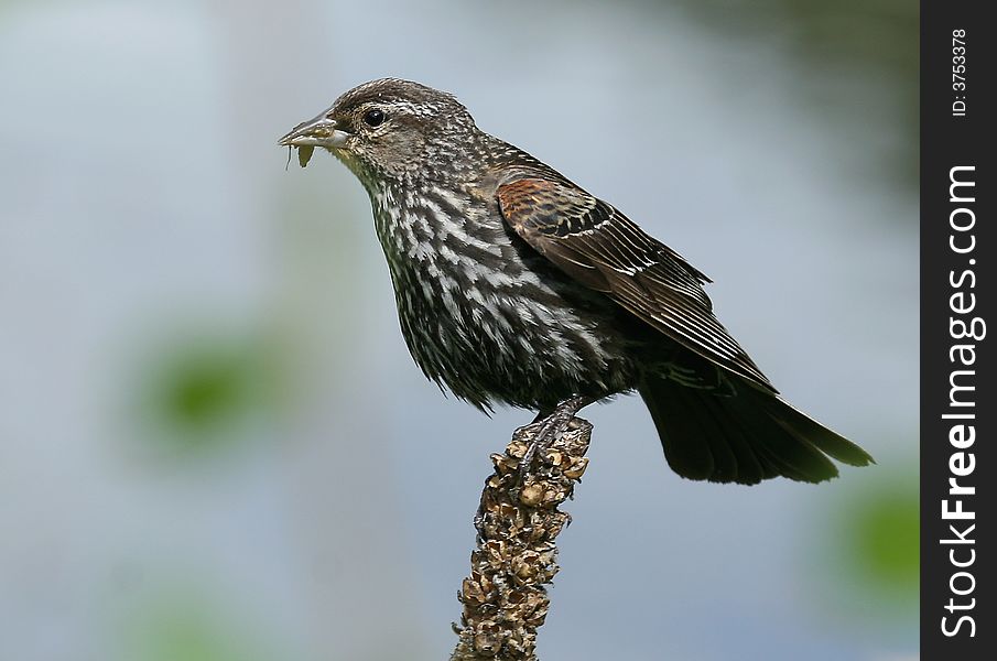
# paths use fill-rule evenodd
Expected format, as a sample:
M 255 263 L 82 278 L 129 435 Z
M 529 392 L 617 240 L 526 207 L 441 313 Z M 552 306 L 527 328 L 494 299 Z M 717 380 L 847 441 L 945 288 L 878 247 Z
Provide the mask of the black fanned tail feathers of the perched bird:
M 819 483 L 837 476 L 828 456 L 853 466 L 873 463 L 859 446 L 779 395 L 744 382 L 736 391 L 713 394 L 654 377 L 640 386 L 675 473 L 748 485 L 780 475 Z

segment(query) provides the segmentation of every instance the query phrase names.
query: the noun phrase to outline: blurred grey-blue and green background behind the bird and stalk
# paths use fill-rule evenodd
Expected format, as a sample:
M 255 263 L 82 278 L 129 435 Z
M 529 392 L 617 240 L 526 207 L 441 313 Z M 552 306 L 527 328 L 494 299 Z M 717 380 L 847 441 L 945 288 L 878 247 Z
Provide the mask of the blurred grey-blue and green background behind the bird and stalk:
M 277 139 L 456 93 L 716 283 L 878 465 L 668 470 L 593 407 L 544 659 L 918 657 L 918 7 L 0 0 L 0 659 L 444 659 L 488 419 L 409 358 L 366 194 Z

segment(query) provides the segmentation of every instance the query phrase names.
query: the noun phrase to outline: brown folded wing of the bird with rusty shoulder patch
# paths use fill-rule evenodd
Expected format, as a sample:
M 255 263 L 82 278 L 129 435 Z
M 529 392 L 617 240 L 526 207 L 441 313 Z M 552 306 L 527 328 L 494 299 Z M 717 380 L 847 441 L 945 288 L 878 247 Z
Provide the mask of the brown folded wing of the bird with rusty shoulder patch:
M 505 184 L 497 195 L 506 223 L 565 273 L 685 348 L 776 391 L 713 315 L 703 290 L 709 279 L 610 205 L 545 178 Z

